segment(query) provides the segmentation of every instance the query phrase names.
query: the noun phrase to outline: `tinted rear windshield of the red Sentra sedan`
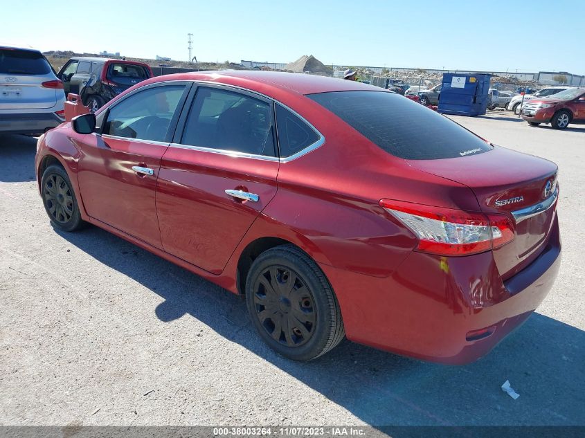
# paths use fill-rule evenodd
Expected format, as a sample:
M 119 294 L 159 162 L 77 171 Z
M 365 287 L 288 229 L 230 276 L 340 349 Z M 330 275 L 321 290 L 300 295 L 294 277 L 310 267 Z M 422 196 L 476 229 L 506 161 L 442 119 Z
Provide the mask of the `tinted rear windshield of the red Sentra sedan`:
M 389 154 L 432 160 L 492 149 L 475 134 L 404 96 L 385 91 L 334 91 L 311 98 Z

